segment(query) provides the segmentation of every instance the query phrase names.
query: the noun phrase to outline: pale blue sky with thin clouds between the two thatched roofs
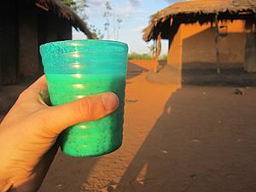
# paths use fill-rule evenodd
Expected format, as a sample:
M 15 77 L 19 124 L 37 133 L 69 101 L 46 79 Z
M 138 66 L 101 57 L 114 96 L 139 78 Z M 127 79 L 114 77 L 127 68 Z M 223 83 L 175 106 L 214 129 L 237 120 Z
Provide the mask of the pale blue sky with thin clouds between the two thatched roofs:
M 84 8 L 84 13 L 88 16 L 88 26 L 96 26 L 104 35 L 103 39 L 119 40 L 129 45 L 129 52 L 137 52 L 140 54 L 148 54 L 149 46 L 153 42 L 146 43 L 143 41 L 143 28 L 148 26 L 150 15 L 157 11 L 166 8 L 178 0 L 109 0 L 113 8 L 112 18 L 110 19 L 109 38 L 107 32 L 104 30 L 104 23 L 106 18 L 103 17 L 106 11 L 105 3 L 107 0 L 87 0 L 88 7 Z M 114 20 L 120 18 L 122 21 L 119 29 L 114 30 Z M 117 27 L 116 27 L 117 28 Z M 84 39 L 84 33 L 77 32 L 73 29 L 73 39 Z M 162 41 L 161 55 L 166 54 L 167 51 L 166 40 Z

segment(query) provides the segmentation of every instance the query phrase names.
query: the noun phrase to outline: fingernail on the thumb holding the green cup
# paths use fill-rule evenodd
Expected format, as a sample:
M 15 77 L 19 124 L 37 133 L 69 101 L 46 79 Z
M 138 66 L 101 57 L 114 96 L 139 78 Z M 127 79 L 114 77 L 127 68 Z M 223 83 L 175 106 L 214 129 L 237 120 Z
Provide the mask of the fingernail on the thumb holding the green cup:
M 119 106 L 119 97 L 112 92 L 102 95 L 102 103 L 107 111 L 113 111 Z

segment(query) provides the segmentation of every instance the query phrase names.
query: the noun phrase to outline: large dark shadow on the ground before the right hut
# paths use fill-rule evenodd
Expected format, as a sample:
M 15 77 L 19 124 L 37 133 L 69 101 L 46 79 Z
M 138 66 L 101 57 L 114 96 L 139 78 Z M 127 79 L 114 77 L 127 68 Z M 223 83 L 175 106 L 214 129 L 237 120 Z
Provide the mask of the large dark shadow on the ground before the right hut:
M 256 191 L 255 90 L 183 87 L 110 191 Z

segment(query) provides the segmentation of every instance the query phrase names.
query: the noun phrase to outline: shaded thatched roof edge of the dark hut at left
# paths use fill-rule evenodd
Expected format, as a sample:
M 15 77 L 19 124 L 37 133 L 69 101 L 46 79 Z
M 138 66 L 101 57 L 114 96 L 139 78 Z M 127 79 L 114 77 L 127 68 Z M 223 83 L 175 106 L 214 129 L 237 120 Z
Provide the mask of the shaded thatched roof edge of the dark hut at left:
M 79 29 L 81 32 L 84 32 L 87 38 L 96 38 L 84 21 L 79 18 L 79 15 L 75 14 L 67 5 L 61 3 L 60 0 L 34 0 L 34 2 L 38 8 L 52 11 L 60 18 L 68 20 L 76 30 Z

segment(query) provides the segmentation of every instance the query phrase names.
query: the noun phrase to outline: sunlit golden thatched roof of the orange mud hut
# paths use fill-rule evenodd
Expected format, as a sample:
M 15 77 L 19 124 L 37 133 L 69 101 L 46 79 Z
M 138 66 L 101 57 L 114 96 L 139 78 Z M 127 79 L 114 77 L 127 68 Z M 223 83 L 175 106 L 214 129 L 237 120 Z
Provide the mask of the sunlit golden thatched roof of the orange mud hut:
M 143 30 L 143 40 L 150 41 L 153 38 L 154 27 L 177 16 L 183 17 L 195 15 L 238 15 L 239 13 L 256 13 L 256 0 L 194 0 L 174 3 L 166 9 L 162 9 L 151 15 L 149 25 Z M 230 18 L 230 17 L 229 17 Z

